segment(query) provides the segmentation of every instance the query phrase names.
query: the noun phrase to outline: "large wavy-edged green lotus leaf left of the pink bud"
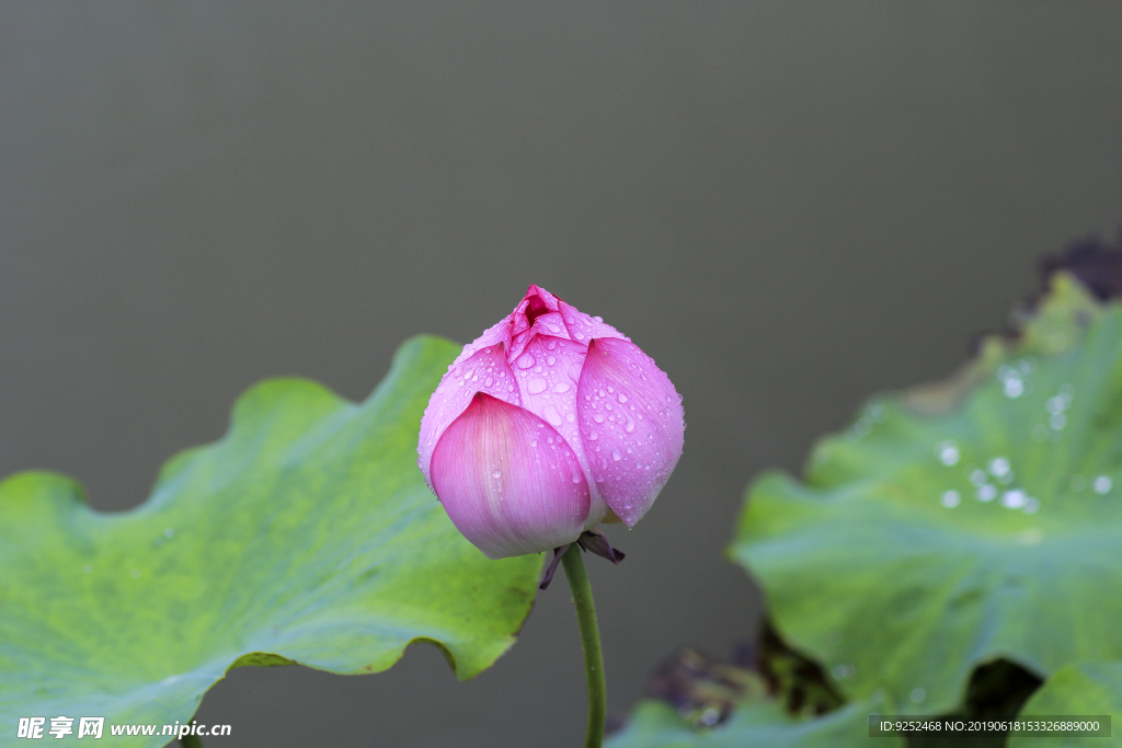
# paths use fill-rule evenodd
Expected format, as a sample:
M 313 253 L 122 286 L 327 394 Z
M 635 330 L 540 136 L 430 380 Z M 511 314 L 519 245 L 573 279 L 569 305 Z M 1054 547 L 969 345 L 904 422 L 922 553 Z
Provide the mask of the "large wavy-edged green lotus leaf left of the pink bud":
M 0 742 L 21 717 L 65 715 L 104 717 L 101 745 L 162 746 L 110 726 L 188 721 L 241 665 L 376 673 L 414 641 L 460 678 L 494 663 L 541 558 L 488 561 L 417 470 L 421 415 L 458 350 L 406 342 L 362 404 L 260 384 L 130 511 L 94 511 L 55 474 L 0 483 Z

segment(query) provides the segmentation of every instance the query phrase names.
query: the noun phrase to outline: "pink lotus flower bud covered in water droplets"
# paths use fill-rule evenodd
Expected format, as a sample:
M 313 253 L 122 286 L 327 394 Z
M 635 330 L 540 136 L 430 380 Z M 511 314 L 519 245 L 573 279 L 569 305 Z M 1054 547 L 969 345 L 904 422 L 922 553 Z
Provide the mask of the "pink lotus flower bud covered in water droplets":
M 681 399 L 631 339 L 531 286 L 449 367 L 417 467 L 489 557 L 557 548 L 646 514 L 682 454 Z

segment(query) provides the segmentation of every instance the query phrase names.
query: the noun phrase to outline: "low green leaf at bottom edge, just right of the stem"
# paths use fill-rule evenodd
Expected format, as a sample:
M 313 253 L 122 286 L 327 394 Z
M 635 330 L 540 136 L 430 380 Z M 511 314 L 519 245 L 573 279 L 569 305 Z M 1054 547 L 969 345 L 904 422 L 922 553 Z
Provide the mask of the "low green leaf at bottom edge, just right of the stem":
M 695 730 L 673 708 L 661 701 L 644 701 L 627 726 L 605 748 L 867 748 L 868 702 L 848 704 L 815 719 L 797 719 L 770 700 L 741 704 L 728 722 L 710 730 Z M 902 748 L 895 737 L 877 738 L 877 746 Z

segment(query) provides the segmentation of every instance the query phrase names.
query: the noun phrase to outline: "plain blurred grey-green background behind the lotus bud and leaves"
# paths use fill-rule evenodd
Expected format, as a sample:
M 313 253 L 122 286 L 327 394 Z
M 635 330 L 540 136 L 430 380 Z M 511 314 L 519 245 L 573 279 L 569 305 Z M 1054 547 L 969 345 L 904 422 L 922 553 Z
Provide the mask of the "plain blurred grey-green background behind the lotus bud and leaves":
M 234 397 L 351 398 L 416 332 L 537 283 L 686 400 L 654 509 L 590 563 L 610 707 L 760 600 L 744 484 L 875 390 L 940 377 L 1122 223 L 1122 4 L 0 6 L 0 473 L 144 500 Z M 476 681 L 241 668 L 215 746 L 578 745 L 563 584 Z

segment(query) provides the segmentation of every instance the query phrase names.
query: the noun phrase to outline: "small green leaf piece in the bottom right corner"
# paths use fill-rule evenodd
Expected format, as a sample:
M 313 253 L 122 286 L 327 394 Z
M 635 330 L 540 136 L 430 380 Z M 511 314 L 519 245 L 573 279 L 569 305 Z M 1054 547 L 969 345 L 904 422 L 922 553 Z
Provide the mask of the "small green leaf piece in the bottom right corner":
M 1122 714 L 1122 662 L 1073 663 L 1056 671 L 1024 703 L 1020 717 L 1089 717 Z M 1010 748 L 1122 746 L 1122 726 L 1111 724 L 1110 738 L 1014 737 Z

